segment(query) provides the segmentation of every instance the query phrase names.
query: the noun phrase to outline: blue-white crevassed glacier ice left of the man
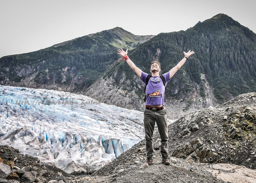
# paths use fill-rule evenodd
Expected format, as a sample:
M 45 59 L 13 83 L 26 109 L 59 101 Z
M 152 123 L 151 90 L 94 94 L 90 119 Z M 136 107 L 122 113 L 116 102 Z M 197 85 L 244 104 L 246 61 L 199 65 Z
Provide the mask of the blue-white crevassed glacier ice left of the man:
M 81 94 L 0 85 L 0 145 L 65 172 L 94 172 L 144 137 L 143 112 Z

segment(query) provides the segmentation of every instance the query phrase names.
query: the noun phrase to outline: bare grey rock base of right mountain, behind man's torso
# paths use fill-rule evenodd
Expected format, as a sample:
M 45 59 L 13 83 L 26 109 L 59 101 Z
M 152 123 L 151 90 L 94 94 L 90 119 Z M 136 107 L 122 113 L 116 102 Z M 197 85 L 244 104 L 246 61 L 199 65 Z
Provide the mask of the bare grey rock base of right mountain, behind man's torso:
M 127 67 L 129 66 L 127 65 Z M 116 73 L 118 72 L 122 71 L 117 70 Z M 94 84 L 92 84 L 84 94 L 102 103 L 113 104 L 127 109 L 144 111 L 145 95 L 143 91 L 145 84 L 143 81 L 140 80 L 140 78 L 138 78 L 135 74 L 133 75 L 133 80 L 127 79 L 128 77 L 125 74 L 122 74 L 121 78 L 114 78 L 114 76 L 106 77 L 104 79 L 100 78 Z M 116 80 L 120 80 L 120 83 L 117 83 Z M 211 92 L 212 88 L 209 86 L 204 74 L 202 74 L 201 80 L 205 82 L 204 91 L 206 96 L 204 98 L 200 96 L 200 87 L 197 84 L 194 86 L 194 91 L 192 91 L 190 94 L 182 96 L 181 100 L 166 96 L 165 107 L 169 119 L 179 119 L 183 115 L 190 112 L 195 112 L 196 110 L 216 105 L 214 95 Z M 131 83 L 134 83 L 133 87 L 130 87 Z

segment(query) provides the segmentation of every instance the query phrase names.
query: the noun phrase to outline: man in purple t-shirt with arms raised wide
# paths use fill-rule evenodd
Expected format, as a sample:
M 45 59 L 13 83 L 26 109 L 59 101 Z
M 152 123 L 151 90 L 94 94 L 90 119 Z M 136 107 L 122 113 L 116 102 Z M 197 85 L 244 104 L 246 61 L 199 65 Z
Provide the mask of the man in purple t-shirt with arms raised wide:
M 137 68 L 132 60 L 127 55 L 128 50 L 123 51 L 122 48 L 118 49 L 118 54 L 124 57 L 125 61 L 128 65 L 134 70 L 134 72 L 140 77 L 141 80 L 146 83 L 146 78 L 148 74 L 143 72 L 141 69 Z M 152 73 L 152 77 L 149 78 L 146 83 L 146 109 L 144 111 L 144 127 L 146 133 L 146 158 L 148 165 L 153 164 L 153 132 L 155 123 L 157 123 L 159 135 L 161 138 L 161 155 L 162 155 L 162 163 L 165 165 L 170 165 L 168 161 L 168 123 L 167 123 L 167 115 L 166 110 L 164 108 L 164 93 L 165 93 L 165 85 L 171 80 L 171 77 L 183 66 L 188 57 L 194 54 L 194 51 L 189 50 L 187 53 L 184 53 L 184 58 L 169 72 L 163 74 L 163 78 L 159 76 L 159 72 L 161 71 L 159 62 L 151 62 L 150 72 Z M 165 81 L 165 85 L 164 85 Z

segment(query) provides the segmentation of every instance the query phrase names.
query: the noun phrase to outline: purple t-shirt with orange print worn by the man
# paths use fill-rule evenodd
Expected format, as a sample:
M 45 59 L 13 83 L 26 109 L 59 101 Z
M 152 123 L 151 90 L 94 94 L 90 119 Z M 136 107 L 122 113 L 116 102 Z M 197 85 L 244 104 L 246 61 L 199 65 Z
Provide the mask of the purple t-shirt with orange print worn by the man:
M 141 73 L 141 80 L 146 84 L 147 73 Z M 165 85 L 170 81 L 170 72 L 163 74 Z M 164 105 L 165 86 L 160 76 L 152 76 L 146 85 L 146 105 Z

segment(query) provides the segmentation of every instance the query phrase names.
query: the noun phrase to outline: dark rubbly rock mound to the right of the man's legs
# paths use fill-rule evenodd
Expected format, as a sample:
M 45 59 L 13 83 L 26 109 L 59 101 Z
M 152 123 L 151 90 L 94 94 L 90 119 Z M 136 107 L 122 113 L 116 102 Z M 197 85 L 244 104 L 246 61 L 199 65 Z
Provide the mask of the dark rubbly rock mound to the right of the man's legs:
M 256 95 L 185 115 L 169 126 L 169 137 L 177 158 L 256 169 Z

